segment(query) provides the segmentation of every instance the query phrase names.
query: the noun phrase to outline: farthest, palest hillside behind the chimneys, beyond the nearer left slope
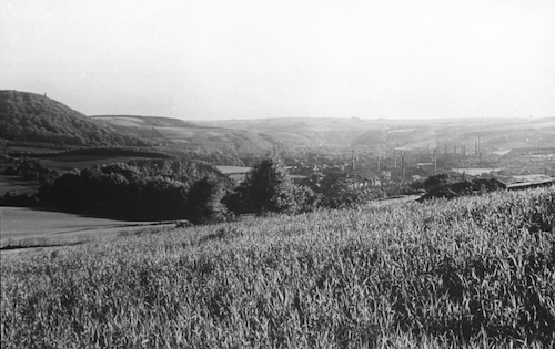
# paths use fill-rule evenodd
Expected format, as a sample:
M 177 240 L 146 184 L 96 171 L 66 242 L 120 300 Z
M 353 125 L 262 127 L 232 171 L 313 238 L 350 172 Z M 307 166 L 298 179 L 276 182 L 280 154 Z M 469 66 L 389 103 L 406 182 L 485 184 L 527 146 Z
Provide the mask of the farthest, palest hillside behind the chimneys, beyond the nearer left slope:
M 271 119 L 198 122 L 201 125 L 250 130 L 279 136 L 289 145 L 432 148 L 455 145 L 482 148 L 555 146 L 555 117 L 465 120 Z

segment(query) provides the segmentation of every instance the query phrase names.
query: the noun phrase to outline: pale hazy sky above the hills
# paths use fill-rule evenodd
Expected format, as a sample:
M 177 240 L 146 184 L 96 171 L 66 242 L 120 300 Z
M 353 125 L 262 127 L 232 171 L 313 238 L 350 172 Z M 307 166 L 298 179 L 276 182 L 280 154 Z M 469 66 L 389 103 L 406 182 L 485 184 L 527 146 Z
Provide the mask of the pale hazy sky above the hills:
M 0 89 L 88 115 L 555 116 L 555 1 L 0 0 Z

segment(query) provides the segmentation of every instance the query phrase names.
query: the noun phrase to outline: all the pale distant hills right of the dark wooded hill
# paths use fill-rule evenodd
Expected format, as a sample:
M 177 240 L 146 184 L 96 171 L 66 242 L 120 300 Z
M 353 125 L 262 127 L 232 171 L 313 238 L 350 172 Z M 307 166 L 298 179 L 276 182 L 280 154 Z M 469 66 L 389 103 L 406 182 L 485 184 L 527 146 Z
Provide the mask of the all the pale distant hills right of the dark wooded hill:
M 188 148 L 261 153 L 273 148 L 394 147 L 423 150 L 437 144 L 452 152 L 466 147 L 509 151 L 555 147 L 555 117 L 465 120 L 260 119 L 183 121 L 169 117 L 91 116 L 121 132 Z

